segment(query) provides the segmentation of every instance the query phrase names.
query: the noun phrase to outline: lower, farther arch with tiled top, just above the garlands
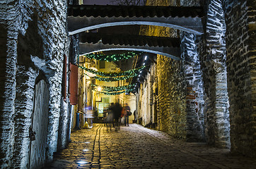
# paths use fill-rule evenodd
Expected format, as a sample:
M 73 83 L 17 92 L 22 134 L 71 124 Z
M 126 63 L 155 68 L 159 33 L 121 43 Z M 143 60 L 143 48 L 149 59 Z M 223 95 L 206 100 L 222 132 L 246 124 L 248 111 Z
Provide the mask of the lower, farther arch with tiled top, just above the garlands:
M 144 51 L 180 61 L 180 39 L 178 38 L 81 33 L 79 34 L 79 41 L 80 54 L 114 50 Z

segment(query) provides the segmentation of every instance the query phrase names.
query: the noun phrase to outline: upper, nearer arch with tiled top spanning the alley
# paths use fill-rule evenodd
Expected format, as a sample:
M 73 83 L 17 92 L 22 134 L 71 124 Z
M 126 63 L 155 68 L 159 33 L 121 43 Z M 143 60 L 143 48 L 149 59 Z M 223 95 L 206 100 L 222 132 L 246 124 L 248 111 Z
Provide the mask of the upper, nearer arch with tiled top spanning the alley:
M 74 35 L 100 27 L 156 25 L 202 35 L 202 11 L 195 6 L 69 6 L 68 31 Z

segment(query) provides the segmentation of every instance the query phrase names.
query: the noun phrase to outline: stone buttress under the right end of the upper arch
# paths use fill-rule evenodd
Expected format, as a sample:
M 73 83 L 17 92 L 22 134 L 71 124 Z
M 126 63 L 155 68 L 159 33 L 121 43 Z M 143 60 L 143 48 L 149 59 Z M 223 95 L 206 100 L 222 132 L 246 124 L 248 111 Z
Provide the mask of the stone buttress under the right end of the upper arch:
M 187 142 L 204 142 L 204 92 L 196 36 L 188 32 L 180 35 L 187 94 Z

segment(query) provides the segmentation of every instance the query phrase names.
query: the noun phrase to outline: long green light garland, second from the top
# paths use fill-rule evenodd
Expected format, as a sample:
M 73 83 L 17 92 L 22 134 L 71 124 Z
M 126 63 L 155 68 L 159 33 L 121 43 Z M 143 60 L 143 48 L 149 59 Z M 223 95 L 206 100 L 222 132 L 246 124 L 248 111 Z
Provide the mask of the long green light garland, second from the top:
M 97 70 L 93 70 L 91 68 L 85 68 L 81 65 L 78 65 L 78 68 L 81 68 L 83 70 L 86 70 L 89 73 L 93 73 L 95 75 L 100 75 L 100 76 L 104 76 L 104 77 L 118 77 L 118 76 L 127 76 L 127 75 L 134 75 L 134 74 L 138 74 L 140 70 L 144 69 L 146 66 L 143 65 L 139 68 L 135 68 L 132 70 L 127 70 L 124 72 L 120 72 L 120 73 L 105 73 L 105 72 L 101 72 L 101 71 L 97 71 Z

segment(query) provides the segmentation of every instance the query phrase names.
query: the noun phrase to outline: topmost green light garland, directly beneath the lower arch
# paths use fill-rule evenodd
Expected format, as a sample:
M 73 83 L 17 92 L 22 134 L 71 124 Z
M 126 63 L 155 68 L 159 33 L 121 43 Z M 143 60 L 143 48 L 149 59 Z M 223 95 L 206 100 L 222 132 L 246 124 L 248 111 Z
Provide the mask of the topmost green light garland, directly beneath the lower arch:
M 139 51 L 129 51 L 124 54 L 112 54 L 112 55 L 105 55 L 105 54 L 86 54 L 86 58 L 91 58 L 91 59 L 96 59 L 100 61 L 121 61 L 124 59 L 132 58 L 136 55 L 141 55 L 143 54 L 142 52 Z

